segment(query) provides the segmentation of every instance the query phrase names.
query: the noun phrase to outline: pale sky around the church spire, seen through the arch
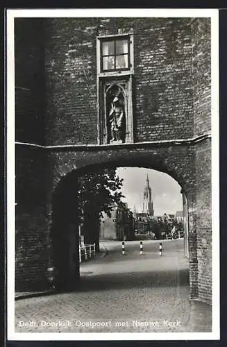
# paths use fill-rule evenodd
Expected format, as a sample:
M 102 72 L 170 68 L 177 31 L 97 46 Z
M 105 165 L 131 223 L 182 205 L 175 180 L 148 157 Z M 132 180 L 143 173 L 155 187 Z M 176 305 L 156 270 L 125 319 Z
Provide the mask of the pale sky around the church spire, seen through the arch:
M 148 174 L 153 200 L 154 214 L 176 214 L 182 211 L 182 194 L 180 185 L 171 176 L 160 171 L 140 167 L 119 167 L 117 175 L 124 178 L 121 192 L 126 198 L 122 201 L 128 203 L 128 208 L 133 211 L 134 205 L 137 212 L 142 212 L 143 192 Z

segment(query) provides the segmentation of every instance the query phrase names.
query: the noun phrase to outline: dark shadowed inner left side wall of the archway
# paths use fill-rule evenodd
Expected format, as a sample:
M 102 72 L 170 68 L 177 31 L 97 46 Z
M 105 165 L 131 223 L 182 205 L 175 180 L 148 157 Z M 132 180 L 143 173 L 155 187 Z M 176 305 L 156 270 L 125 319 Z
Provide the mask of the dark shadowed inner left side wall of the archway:
M 64 176 L 52 197 L 51 258 L 56 269 L 56 289 L 74 287 L 79 279 L 77 180 Z

